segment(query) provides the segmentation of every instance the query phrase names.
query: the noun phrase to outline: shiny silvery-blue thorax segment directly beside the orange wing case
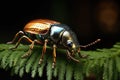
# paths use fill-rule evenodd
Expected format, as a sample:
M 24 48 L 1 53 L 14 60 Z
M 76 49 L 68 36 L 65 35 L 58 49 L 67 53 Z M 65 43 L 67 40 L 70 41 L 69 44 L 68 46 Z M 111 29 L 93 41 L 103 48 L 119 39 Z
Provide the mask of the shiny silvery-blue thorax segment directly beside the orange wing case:
M 59 26 L 52 26 L 50 29 L 50 38 L 53 42 L 58 43 L 65 29 Z

